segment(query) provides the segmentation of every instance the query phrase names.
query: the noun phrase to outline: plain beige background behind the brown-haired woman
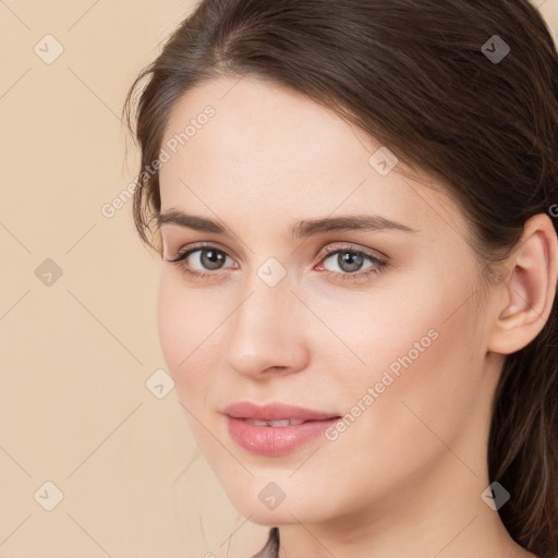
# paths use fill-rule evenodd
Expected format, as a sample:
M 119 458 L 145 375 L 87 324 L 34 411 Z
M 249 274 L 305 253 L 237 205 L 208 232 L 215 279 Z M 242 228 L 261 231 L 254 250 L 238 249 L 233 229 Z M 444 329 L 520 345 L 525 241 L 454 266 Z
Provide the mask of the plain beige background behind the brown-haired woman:
M 536 3 L 558 41 L 558 0 Z M 0 558 L 246 557 L 267 537 L 153 387 L 158 258 L 131 204 L 101 214 L 137 173 L 128 87 L 192 5 L 0 0 Z

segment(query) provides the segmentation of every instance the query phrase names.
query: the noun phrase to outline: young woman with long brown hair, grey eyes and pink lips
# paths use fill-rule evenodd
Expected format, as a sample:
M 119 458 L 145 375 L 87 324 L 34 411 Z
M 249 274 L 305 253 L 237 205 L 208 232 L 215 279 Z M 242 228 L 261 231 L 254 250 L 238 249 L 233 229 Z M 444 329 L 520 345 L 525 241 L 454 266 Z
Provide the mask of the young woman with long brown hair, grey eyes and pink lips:
M 141 238 L 256 556 L 558 554 L 558 57 L 526 0 L 204 0 L 145 69 Z M 279 536 L 280 534 L 280 536 Z

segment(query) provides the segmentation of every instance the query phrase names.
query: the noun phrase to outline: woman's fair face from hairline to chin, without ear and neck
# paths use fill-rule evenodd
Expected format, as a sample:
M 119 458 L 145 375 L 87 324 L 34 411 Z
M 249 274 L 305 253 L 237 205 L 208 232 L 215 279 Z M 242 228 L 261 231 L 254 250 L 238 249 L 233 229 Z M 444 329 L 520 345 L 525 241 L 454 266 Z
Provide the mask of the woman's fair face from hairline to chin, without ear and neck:
M 466 223 L 379 147 L 250 77 L 197 87 L 166 129 L 161 347 L 199 448 L 256 523 L 447 509 L 486 486 L 497 374 Z M 341 228 L 357 216 L 376 226 Z M 257 412 L 227 415 L 236 402 L 333 418 L 251 425 Z M 293 415 L 312 418 L 259 418 Z

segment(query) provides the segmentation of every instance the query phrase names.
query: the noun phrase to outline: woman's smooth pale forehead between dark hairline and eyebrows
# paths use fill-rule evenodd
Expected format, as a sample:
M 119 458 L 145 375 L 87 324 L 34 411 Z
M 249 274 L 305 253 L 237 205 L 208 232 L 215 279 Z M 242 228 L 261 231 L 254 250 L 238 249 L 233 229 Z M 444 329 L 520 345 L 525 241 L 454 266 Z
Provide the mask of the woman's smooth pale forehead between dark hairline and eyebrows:
M 369 211 L 445 233 L 448 219 L 462 218 L 439 184 L 436 192 L 405 175 L 402 161 L 378 172 L 371 156 L 381 144 L 331 109 L 253 77 L 214 80 L 184 95 L 162 147 L 170 156 L 160 169 L 162 210 L 265 215 L 268 226 Z

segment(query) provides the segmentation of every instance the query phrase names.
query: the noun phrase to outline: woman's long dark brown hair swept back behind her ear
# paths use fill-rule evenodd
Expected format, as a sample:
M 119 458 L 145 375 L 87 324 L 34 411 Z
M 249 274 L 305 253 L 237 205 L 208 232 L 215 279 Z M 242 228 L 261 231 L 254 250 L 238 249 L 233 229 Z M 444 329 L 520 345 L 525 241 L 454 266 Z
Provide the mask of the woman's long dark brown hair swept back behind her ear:
M 483 270 L 558 203 L 558 54 L 527 0 L 203 0 L 129 92 L 142 169 L 177 100 L 225 75 L 301 92 L 440 180 Z M 151 246 L 158 180 L 143 172 L 133 199 Z M 557 312 L 507 356 L 488 447 L 490 481 L 512 493 L 502 522 L 541 558 L 558 553 Z

